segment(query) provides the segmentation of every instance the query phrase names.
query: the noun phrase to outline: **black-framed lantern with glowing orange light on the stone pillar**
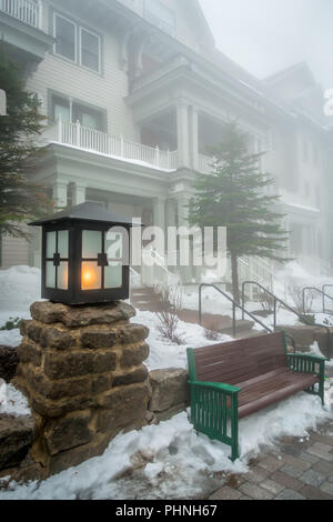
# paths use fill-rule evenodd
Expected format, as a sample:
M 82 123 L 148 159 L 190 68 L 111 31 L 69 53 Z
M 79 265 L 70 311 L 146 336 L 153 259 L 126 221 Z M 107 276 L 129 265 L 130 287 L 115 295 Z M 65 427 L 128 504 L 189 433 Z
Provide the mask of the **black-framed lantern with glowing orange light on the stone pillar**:
M 67 304 L 129 298 L 131 221 L 82 203 L 42 227 L 42 298 Z

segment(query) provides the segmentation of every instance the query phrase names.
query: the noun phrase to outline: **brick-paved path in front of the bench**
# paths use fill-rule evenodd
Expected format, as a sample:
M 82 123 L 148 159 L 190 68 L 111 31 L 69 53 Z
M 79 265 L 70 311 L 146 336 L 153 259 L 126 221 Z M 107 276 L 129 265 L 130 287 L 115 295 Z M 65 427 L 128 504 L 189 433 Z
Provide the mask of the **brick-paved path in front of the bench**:
M 333 500 L 333 421 L 306 440 L 281 439 L 250 472 L 230 475 L 210 500 Z

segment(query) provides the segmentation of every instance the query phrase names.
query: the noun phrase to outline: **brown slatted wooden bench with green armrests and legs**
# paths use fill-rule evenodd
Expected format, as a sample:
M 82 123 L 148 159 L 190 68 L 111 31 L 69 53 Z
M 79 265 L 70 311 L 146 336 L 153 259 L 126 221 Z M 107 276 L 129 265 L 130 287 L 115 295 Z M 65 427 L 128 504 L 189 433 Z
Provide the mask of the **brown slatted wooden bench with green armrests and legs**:
M 231 445 L 239 458 L 239 419 L 299 391 L 324 404 L 325 358 L 287 353 L 284 332 L 188 349 L 191 422 Z

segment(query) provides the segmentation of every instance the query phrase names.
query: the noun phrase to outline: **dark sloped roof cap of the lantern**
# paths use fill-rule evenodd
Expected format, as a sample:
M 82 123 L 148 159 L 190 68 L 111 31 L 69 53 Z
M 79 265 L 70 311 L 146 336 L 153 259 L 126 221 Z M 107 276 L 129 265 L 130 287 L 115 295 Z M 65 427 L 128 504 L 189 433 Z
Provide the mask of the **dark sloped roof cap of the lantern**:
M 98 221 L 100 223 L 124 224 L 132 227 L 132 221 L 117 215 L 97 203 L 81 203 L 70 209 L 63 210 L 48 218 L 29 223 L 31 227 L 42 227 L 44 224 L 58 223 L 61 221 Z

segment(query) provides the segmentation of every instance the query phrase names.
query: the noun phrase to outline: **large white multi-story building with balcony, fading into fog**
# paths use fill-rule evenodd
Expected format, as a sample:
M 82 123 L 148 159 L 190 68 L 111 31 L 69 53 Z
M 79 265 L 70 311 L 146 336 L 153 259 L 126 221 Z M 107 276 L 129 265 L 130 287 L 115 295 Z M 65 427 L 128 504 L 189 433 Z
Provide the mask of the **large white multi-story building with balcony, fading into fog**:
M 329 270 L 332 137 L 305 64 L 259 81 L 215 49 L 196 0 L 0 0 L 0 34 L 48 118 L 33 180 L 59 208 L 94 201 L 145 224 L 185 224 L 208 147 L 236 119 L 268 151 L 290 254 Z M 2 238 L 2 269 L 39 257 L 38 235 Z

